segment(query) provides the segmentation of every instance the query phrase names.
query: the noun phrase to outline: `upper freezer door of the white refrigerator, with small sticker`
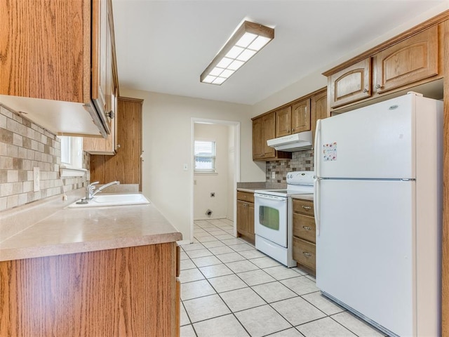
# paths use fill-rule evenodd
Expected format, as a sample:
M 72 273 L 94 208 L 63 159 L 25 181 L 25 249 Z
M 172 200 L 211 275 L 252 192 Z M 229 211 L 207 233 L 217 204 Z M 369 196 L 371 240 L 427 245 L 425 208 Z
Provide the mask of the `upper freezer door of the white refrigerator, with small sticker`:
M 415 178 L 415 95 L 321 120 L 317 176 Z

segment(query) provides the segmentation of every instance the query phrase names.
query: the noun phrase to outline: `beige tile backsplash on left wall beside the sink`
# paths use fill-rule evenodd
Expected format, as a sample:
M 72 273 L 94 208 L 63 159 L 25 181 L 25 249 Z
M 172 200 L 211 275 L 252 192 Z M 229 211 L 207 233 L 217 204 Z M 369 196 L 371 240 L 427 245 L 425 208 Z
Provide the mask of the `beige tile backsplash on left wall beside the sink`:
M 89 169 L 84 152 L 83 168 Z M 61 143 L 53 133 L 0 105 L 0 211 L 81 188 L 84 177 L 60 177 Z M 34 192 L 33 168 L 40 190 Z

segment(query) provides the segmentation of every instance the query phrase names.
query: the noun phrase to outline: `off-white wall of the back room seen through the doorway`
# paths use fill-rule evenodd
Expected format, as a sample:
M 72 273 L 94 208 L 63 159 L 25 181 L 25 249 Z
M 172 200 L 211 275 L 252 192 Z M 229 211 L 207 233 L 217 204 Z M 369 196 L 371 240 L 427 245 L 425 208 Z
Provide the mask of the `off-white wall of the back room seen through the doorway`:
M 217 157 L 215 161 L 216 173 L 194 173 L 194 220 L 220 219 L 227 216 L 229 187 L 228 128 L 231 127 L 222 124 L 195 123 L 194 139 L 215 141 Z M 210 197 L 210 192 L 214 192 L 215 197 Z M 212 216 L 206 215 L 208 209 L 213 212 Z

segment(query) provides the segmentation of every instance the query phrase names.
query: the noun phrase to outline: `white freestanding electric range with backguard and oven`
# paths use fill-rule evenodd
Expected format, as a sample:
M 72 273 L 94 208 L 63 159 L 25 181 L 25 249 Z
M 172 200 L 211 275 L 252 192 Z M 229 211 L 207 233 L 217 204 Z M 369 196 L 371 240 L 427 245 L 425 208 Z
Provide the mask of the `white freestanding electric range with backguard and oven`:
M 314 172 L 287 173 L 287 188 L 254 193 L 255 248 L 287 267 L 293 260 L 293 201 L 296 194 L 314 193 Z

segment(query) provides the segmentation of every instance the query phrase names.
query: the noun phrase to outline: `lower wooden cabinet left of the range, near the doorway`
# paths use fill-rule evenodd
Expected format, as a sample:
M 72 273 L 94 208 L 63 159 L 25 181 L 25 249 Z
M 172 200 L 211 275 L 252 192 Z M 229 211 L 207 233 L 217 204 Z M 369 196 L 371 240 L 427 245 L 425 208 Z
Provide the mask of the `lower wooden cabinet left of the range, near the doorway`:
M 255 242 L 254 193 L 237 191 L 237 236 Z

